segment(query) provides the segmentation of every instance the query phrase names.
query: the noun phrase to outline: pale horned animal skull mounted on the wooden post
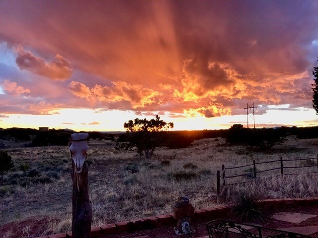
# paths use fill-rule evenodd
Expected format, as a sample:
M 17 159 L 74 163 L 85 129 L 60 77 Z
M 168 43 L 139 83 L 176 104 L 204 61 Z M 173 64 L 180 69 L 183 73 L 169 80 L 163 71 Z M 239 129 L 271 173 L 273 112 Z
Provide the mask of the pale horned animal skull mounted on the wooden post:
M 87 138 L 87 133 L 74 133 L 71 135 L 71 157 L 75 164 L 75 172 L 78 174 L 81 173 L 86 160 L 86 151 L 88 149 Z

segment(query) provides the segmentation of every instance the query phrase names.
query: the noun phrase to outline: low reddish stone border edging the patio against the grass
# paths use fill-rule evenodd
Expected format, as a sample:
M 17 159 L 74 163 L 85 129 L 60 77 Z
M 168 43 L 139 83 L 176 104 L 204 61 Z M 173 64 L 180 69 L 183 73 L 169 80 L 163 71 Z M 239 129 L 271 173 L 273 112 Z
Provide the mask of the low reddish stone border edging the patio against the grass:
M 265 199 L 262 200 L 260 204 L 265 210 L 273 211 L 277 208 L 291 205 L 309 206 L 318 204 L 318 197 Z M 220 214 L 227 214 L 230 213 L 230 211 L 231 206 L 224 204 L 210 208 L 202 208 L 194 211 L 194 218 L 217 219 Z M 153 217 L 106 224 L 100 227 L 92 227 L 90 236 L 91 238 L 97 238 L 111 234 L 118 234 L 120 232 L 149 230 L 158 226 L 171 225 L 175 222 L 176 219 L 173 217 L 173 213 L 169 213 Z M 72 238 L 72 232 L 48 235 L 39 238 Z

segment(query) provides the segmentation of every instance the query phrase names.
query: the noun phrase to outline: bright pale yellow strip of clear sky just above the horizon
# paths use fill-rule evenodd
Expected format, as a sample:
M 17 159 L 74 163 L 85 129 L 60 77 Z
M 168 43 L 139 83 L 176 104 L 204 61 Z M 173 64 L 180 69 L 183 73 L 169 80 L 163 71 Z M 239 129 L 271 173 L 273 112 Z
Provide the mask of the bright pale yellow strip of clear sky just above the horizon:
M 284 107 L 284 105 L 282 105 Z M 297 110 L 277 110 L 279 106 L 270 107 L 271 110 L 262 115 L 255 115 L 255 127 L 274 126 L 316 126 L 318 125 L 317 115 L 314 109 L 298 108 Z M 152 119 L 156 113 L 145 116 L 137 115 L 132 111 L 103 110 L 103 109 L 62 109 L 54 110 L 49 115 L 22 115 L 11 114 L 2 115 L 0 127 L 21 127 L 38 128 L 48 126 L 49 128 L 64 129 L 69 128 L 76 131 L 125 131 L 123 124 L 129 120 Z M 233 115 L 206 118 L 200 114 L 168 114 L 159 115 L 160 119 L 166 122 L 173 122 L 174 128 L 171 130 L 204 130 L 204 129 L 228 129 L 233 124 L 243 124 L 247 126 L 246 115 Z M 249 125 L 253 124 L 252 118 Z

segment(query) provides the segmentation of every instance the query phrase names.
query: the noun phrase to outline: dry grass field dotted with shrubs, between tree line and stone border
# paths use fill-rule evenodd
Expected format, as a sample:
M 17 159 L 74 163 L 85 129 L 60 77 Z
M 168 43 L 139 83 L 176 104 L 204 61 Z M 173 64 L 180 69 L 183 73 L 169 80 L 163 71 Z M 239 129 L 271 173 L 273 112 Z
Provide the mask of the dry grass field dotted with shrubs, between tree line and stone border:
M 12 224 L 18 222 L 22 231 L 19 237 L 24 238 L 70 231 L 72 180 L 68 147 L 23 148 L 18 143 L 1 142 L 10 146 L 5 150 L 15 164 L 15 171 L 5 175 L 4 182 L 16 183 L 0 186 L 3 238 L 16 236 Z M 133 152 L 116 152 L 115 144 L 105 140 L 90 140 L 88 145 L 93 226 L 170 213 L 177 197 L 184 195 L 196 209 L 214 206 L 216 172 L 222 164 L 231 167 L 251 164 L 253 160 L 278 160 L 281 156 L 317 158 L 318 153 L 318 139 L 292 136 L 270 151 L 230 146 L 224 138 L 201 139 L 184 149 L 157 148 L 151 160 Z M 317 160 L 300 163 L 313 165 Z M 266 166 L 269 165 L 262 164 L 258 169 Z M 247 184 L 245 188 L 257 190 L 264 198 L 318 196 L 317 173 L 308 175 L 307 172 L 317 172 L 317 167 L 291 171 L 297 173 L 294 176 L 275 177 L 277 172 L 270 172 L 266 176 L 271 178 L 261 180 L 256 186 Z M 228 197 L 239 186 L 229 189 Z M 23 221 L 33 221 L 41 231 L 34 233 L 32 225 Z

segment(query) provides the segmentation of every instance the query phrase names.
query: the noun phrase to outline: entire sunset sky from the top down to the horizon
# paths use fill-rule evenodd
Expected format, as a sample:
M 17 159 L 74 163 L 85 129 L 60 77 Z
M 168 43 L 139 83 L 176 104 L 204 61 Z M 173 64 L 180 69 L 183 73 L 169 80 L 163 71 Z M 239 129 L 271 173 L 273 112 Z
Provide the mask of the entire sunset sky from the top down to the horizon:
M 0 127 L 316 126 L 317 57 L 317 0 L 1 0 Z

